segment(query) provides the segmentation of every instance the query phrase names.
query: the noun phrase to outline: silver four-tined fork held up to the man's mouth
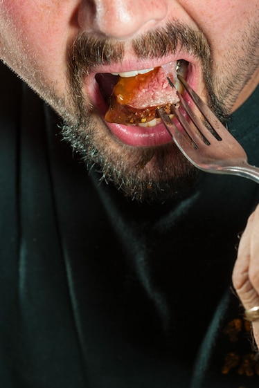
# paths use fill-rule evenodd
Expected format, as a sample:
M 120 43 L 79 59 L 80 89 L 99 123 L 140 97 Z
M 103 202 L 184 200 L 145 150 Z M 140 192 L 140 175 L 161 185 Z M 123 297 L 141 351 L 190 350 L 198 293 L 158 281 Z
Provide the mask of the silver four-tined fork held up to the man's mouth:
M 186 80 L 181 75 L 178 75 L 178 78 L 207 122 L 204 124 L 204 119 L 198 117 L 190 109 L 178 92 L 181 107 L 190 118 L 186 120 L 186 114 L 181 113 L 181 109 L 172 108 L 172 113 L 175 114 L 182 129 L 177 128 L 163 107 L 157 109 L 166 129 L 181 152 L 190 163 L 205 172 L 239 175 L 259 183 L 259 168 L 249 165 L 247 154 L 239 142 L 233 138 L 197 93 L 190 88 Z M 168 81 L 170 82 L 169 79 Z

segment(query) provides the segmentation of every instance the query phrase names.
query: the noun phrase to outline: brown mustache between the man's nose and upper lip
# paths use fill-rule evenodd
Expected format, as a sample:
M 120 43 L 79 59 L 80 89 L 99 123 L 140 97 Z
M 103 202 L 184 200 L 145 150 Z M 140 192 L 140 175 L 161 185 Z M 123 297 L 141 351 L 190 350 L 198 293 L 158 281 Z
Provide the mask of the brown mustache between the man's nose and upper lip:
M 95 66 L 122 62 L 129 44 L 138 59 L 161 58 L 175 54 L 177 50 L 185 50 L 198 57 L 203 66 L 208 67 L 211 62 L 210 48 L 202 31 L 172 21 L 163 28 L 132 39 L 130 43 L 80 33 L 69 50 L 70 68 L 82 76 L 90 73 Z

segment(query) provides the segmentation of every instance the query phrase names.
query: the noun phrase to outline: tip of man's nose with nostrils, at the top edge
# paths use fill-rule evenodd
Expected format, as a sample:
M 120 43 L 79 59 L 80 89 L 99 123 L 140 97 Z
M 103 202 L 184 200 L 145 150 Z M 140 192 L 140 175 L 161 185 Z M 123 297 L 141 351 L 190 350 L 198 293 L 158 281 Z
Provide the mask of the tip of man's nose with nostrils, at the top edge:
M 166 0 L 82 0 L 82 30 L 118 40 L 134 37 L 166 17 Z

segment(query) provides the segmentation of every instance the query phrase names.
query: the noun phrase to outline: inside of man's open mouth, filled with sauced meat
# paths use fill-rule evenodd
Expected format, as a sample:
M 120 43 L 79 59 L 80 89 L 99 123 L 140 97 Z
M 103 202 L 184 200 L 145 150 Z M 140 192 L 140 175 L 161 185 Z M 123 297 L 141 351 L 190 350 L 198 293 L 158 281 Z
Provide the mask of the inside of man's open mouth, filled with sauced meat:
M 158 107 L 164 107 L 170 113 L 170 107 L 179 104 L 176 89 L 180 93 L 182 89 L 177 73 L 187 77 L 188 62 L 184 59 L 141 71 L 97 74 L 100 93 L 107 104 L 105 120 L 154 127 L 161 122 Z M 170 86 L 168 78 L 176 89 Z

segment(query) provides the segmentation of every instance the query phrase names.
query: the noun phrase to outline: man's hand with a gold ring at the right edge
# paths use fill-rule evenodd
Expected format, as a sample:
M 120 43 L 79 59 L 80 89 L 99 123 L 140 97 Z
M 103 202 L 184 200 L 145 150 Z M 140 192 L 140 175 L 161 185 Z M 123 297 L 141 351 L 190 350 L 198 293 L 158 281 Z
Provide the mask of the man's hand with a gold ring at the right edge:
M 240 239 L 233 286 L 245 309 L 259 306 L 259 205 L 249 217 Z M 254 320 L 252 326 L 259 347 L 259 319 Z

